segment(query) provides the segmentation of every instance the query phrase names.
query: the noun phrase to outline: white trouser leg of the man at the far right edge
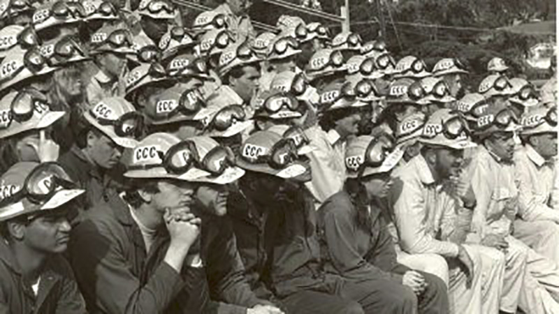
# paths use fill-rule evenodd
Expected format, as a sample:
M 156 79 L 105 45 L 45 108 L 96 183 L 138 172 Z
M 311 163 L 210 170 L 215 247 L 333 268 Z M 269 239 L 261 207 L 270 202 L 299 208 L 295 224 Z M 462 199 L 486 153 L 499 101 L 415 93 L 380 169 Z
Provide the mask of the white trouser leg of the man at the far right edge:
M 559 225 L 549 220 L 514 221 L 514 237 L 559 264 Z

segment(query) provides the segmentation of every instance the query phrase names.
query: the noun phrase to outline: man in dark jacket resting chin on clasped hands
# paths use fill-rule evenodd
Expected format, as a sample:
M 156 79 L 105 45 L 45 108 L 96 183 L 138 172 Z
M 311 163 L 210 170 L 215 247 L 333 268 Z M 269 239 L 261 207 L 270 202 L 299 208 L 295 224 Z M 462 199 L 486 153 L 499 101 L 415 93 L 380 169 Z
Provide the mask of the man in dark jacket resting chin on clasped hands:
M 207 172 L 192 167 L 194 156 L 191 143 L 173 135 L 145 137 L 127 165 L 125 175 L 132 181 L 126 202 L 88 211 L 75 228 L 71 261 L 89 311 L 262 313 L 247 310 L 247 304 L 210 301 L 198 240 L 201 219 L 192 214 L 194 181 Z M 218 297 L 244 296 L 239 303 L 256 300 L 243 283 L 230 281 L 231 294 Z

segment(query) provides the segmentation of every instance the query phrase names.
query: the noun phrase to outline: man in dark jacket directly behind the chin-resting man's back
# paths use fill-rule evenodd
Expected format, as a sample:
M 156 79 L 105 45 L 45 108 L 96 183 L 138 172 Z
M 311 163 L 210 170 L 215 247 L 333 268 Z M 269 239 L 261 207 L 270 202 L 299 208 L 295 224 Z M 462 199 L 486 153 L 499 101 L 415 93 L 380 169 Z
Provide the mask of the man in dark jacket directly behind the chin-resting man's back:
M 75 144 L 59 162 L 68 175 L 86 190 L 80 199 L 87 210 L 100 202 L 118 201 L 125 148 L 136 146 L 142 118 L 124 98 L 106 98 L 84 112 L 87 131 L 83 147 Z

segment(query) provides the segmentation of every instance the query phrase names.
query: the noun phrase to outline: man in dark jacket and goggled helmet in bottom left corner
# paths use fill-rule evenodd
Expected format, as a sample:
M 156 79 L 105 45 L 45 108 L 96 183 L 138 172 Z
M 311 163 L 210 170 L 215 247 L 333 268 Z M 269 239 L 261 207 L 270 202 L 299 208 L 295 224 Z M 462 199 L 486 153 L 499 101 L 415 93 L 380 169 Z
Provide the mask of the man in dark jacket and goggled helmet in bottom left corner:
M 0 313 L 86 313 L 61 256 L 83 190 L 56 163 L 17 163 L 0 182 Z

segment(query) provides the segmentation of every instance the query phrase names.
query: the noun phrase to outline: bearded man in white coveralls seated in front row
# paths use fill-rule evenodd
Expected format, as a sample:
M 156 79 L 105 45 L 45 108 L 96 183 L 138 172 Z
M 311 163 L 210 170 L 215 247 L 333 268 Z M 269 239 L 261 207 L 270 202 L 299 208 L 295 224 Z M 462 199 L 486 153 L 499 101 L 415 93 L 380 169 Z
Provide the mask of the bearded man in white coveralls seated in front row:
M 504 257 L 493 249 L 462 244 L 469 222 L 458 220 L 458 200 L 447 183 L 458 172 L 463 150 L 474 146 L 465 122 L 451 110 L 438 110 L 423 126 L 419 141 L 421 154 L 399 170 L 389 195 L 400 247 L 411 255 L 444 257 L 451 313 L 498 313 Z M 471 208 L 471 193 L 464 199 Z

